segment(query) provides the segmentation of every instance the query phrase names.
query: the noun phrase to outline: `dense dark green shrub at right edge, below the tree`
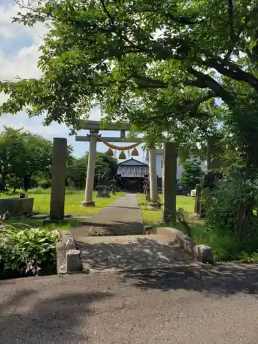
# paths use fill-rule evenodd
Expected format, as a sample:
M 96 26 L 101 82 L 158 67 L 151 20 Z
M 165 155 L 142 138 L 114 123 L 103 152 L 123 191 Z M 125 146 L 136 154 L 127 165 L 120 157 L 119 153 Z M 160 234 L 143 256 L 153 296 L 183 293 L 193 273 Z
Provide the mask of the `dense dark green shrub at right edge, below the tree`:
M 257 248 L 257 179 L 230 176 L 210 193 L 204 193 L 204 207 L 208 228 L 223 228 L 249 252 Z

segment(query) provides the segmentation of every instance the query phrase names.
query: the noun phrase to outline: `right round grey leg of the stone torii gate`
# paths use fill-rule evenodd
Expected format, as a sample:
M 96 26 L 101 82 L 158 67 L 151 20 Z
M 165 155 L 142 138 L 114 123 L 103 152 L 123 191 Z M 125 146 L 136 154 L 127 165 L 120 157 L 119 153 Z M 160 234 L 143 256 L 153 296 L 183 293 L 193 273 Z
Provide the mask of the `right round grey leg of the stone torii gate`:
M 156 167 L 156 149 L 149 149 L 149 187 L 150 187 L 150 206 L 158 207 L 158 182 Z

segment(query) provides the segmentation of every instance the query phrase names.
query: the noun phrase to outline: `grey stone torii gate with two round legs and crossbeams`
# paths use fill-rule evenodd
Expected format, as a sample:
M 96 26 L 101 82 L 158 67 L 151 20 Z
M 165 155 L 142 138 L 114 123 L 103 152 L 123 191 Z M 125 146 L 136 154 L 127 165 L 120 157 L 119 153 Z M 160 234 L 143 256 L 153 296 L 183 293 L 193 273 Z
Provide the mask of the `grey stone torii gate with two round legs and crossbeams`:
M 89 130 L 90 134 L 87 136 L 76 136 L 76 141 L 89 142 L 89 157 L 87 166 L 87 177 L 85 185 L 85 199 L 82 202 L 83 206 L 95 206 L 93 201 L 93 186 L 94 186 L 94 173 L 95 173 L 95 160 L 96 160 L 96 148 L 98 142 L 98 131 L 120 131 L 120 138 L 101 137 L 105 142 L 144 142 L 143 138 L 126 138 L 125 131 L 131 129 L 131 125 L 128 123 L 109 123 L 107 125 L 101 125 L 96 120 L 87 120 L 82 123 L 82 129 Z M 149 181 L 150 181 L 150 196 L 151 204 L 155 206 L 158 204 L 158 184 L 157 184 L 157 171 L 156 171 L 156 152 L 155 148 L 149 149 Z

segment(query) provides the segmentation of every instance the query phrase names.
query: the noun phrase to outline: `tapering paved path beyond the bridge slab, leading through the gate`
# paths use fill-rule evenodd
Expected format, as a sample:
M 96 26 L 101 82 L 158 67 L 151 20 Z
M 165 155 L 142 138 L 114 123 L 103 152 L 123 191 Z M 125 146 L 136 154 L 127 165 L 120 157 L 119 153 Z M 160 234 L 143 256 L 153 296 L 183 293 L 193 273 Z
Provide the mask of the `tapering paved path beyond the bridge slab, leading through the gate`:
M 137 195 L 127 194 L 106 206 L 83 222 L 83 226 L 72 228 L 74 237 L 86 237 L 92 233 L 103 235 L 128 235 L 142 233 L 142 215 Z

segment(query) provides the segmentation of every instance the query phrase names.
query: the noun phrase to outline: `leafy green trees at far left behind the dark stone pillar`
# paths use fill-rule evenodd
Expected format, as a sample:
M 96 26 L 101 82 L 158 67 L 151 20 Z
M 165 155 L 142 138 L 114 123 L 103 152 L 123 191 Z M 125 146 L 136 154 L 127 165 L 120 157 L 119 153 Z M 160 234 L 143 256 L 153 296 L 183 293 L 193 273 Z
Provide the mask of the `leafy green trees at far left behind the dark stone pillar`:
M 14 188 L 14 193 L 18 187 L 28 191 L 30 187 L 36 186 L 36 181 L 49 182 L 52 148 L 52 142 L 40 135 L 23 129 L 4 127 L 0 133 L 1 191 L 4 190 L 7 178 Z M 72 147 L 68 146 L 67 163 L 71 158 Z

